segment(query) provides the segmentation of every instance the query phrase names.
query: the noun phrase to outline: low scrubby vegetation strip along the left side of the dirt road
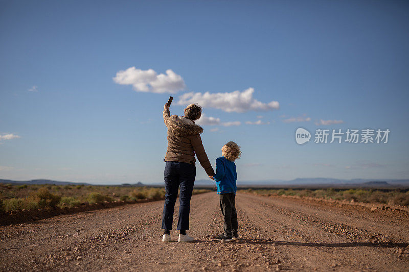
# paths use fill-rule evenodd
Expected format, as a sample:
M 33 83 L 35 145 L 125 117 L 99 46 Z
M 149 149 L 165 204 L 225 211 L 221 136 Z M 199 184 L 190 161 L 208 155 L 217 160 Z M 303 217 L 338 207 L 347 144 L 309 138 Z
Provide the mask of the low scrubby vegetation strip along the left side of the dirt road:
M 208 192 L 194 189 L 193 194 Z M 161 200 L 161 187 L 125 187 L 97 185 L 14 185 L 0 183 L 0 210 L 34 210 L 48 207 L 76 207 L 115 201 Z

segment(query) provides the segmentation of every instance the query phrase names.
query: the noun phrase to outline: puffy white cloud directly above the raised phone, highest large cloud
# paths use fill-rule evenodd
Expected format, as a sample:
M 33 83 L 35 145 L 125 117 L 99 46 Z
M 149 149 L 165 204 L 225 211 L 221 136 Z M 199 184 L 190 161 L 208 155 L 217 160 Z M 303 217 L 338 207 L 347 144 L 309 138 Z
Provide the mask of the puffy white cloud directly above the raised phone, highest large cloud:
M 166 70 L 166 75 L 157 75 L 153 69 L 141 70 L 133 66 L 117 72 L 113 81 L 121 85 L 132 85 L 135 91 L 140 92 L 175 93 L 186 88 L 183 78 L 171 69 Z

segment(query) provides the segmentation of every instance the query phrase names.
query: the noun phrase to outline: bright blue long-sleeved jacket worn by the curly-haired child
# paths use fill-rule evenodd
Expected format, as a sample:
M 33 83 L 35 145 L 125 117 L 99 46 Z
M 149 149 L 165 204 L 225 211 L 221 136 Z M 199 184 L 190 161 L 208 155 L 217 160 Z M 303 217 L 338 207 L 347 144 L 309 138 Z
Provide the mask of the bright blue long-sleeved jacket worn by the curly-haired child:
M 217 194 L 236 193 L 237 172 L 236 164 L 224 157 L 216 159 L 216 181 Z

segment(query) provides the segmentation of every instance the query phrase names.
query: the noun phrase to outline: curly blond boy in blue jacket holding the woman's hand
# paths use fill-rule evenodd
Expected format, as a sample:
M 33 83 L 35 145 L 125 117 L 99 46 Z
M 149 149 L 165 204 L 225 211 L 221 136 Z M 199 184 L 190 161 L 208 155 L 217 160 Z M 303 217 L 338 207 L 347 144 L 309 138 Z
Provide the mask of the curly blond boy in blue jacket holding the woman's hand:
M 240 146 L 235 142 L 228 142 L 221 147 L 222 157 L 216 159 L 216 181 L 217 194 L 220 195 L 220 209 L 223 214 L 224 233 L 215 236 L 217 240 L 231 241 L 239 238 L 237 234 L 237 212 L 235 205 L 237 172 L 234 161 L 240 158 Z

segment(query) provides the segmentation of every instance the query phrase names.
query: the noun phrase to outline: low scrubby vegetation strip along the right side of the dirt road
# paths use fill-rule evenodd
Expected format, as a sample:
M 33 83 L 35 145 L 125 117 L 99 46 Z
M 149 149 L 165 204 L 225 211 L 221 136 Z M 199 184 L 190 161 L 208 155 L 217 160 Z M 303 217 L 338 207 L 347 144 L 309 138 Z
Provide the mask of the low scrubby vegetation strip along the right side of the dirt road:
M 300 197 L 315 197 L 318 199 L 347 200 L 351 202 L 379 203 L 389 205 L 409 206 L 409 191 L 391 189 L 382 191 L 376 189 L 248 189 L 242 190 L 259 195 L 297 195 Z

